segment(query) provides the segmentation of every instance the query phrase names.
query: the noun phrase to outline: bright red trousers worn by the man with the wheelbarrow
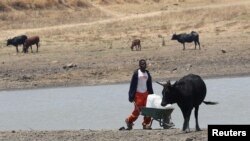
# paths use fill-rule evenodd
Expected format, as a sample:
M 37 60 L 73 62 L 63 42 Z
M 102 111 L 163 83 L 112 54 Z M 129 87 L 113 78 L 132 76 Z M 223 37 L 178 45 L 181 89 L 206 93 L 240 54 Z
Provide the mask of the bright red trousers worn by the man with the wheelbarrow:
M 134 101 L 135 101 L 134 111 L 127 118 L 129 123 L 133 123 L 134 121 L 137 120 L 137 118 L 140 115 L 141 108 L 146 106 L 147 97 L 148 97 L 148 92 L 145 92 L 145 93 L 136 92 L 135 99 L 134 99 Z M 150 122 L 151 122 L 151 117 L 144 116 L 144 120 L 142 122 L 142 125 L 148 125 L 148 124 L 150 124 Z

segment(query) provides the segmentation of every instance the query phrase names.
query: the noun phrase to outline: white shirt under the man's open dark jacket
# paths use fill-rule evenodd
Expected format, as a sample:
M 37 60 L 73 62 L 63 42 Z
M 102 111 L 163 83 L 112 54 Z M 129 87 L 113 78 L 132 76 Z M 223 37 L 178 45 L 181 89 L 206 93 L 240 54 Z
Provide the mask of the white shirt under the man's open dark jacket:
M 148 73 L 145 71 L 144 73 L 138 69 L 138 83 L 136 91 L 139 93 L 145 93 L 147 89 L 147 80 L 148 80 Z

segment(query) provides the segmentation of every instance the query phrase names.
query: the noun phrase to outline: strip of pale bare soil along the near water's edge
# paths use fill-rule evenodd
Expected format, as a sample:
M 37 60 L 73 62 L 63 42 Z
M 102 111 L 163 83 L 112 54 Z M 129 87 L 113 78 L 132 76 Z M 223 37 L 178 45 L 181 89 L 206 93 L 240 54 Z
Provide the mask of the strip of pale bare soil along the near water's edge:
M 207 130 L 78 130 L 0 132 L 1 141 L 207 141 Z

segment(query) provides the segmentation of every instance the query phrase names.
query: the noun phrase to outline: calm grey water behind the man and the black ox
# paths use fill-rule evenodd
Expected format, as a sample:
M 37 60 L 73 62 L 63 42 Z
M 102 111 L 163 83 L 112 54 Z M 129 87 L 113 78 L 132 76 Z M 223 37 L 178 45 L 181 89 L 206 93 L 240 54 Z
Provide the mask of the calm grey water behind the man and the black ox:
M 249 124 L 250 77 L 207 79 L 207 101 L 199 109 L 201 128 L 208 124 Z M 162 86 L 153 83 L 155 93 Z M 118 129 L 133 110 L 128 102 L 129 84 L 70 88 L 0 91 L 0 130 Z M 176 104 L 172 121 L 182 128 Z M 195 127 L 192 112 L 190 128 Z M 135 122 L 141 128 L 142 117 Z M 154 121 L 153 128 L 160 128 Z

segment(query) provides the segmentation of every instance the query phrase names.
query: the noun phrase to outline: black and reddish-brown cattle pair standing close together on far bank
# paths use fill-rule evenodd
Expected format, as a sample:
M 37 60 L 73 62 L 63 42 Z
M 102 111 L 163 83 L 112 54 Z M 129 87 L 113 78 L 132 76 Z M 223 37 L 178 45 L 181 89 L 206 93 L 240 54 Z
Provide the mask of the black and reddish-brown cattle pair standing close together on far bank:
M 13 45 L 16 47 L 16 52 L 19 52 L 18 46 L 23 45 L 22 52 L 27 53 L 29 47 L 31 49 L 31 52 L 33 52 L 32 45 L 36 45 L 36 47 L 37 47 L 36 52 L 38 52 L 39 41 L 40 41 L 40 39 L 38 36 L 27 37 L 26 35 L 20 35 L 20 36 L 16 36 L 16 37 L 13 37 L 11 39 L 8 39 L 7 46 Z

